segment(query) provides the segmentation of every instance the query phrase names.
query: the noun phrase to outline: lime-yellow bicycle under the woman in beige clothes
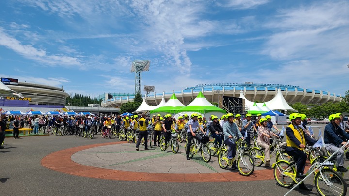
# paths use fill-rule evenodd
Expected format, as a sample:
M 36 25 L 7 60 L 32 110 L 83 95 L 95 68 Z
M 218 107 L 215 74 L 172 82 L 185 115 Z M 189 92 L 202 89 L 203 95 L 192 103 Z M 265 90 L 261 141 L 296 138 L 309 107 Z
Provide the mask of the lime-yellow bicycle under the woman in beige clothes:
M 273 148 L 274 150 L 270 153 L 270 159 L 276 156 L 276 162 L 279 160 L 291 161 L 292 157 L 289 156 L 285 151 L 286 142 L 282 142 L 280 138 L 277 138 L 275 136 L 273 136 L 272 139 L 273 143 L 270 144 L 270 149 Z M 250 151 L 250 155 L 254 158 L 255 166 L 261 166 L 263 163 L 265 163 L 265 154 L 263 148 L 252 148 Z

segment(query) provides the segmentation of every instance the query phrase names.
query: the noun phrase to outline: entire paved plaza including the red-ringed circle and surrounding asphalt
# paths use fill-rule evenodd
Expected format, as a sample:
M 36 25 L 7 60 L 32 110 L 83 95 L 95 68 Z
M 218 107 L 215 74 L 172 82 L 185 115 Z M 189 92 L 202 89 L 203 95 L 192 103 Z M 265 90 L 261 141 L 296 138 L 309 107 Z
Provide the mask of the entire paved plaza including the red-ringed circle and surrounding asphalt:
M 117 138 L 75 136 L 6 138 L 0 149 L 0 196 L 94 195 L 284 195 L 272 170 L 255 167 L 249 177 L 221 169 L 217 155 L 209 163 L 195 155 L 159 147 L 135 151 L 135 144 Z M 345 161 L 345 165 L 349 162 Z M 348 179 L 348 174 L 345 176 Z M 347 183 L 349 181 L 347 180 Z M 317 195 L 294 190 L 291 195 Z

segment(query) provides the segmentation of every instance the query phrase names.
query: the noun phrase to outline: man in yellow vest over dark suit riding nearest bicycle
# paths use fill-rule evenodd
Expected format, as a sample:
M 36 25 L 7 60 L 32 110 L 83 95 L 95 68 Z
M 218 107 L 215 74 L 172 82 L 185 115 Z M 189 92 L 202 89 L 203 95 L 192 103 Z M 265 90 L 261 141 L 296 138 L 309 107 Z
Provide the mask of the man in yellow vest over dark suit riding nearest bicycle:
M 293 156 L 294 162 L 297 164 L 297 178 L 305 178 L 304 168 L 307 155 L 303 152 L 306 142 L 310 145 L 316 143 L 315 140 L 304 134 L 301 125 L 301 114 L 292 113 L 289 116 L 291 124 L 286 127 L 286 152 L 288 155 Z M 311 191 L 311 188 L 305 186 L 304 183 L 299 185 L 302 190 Z

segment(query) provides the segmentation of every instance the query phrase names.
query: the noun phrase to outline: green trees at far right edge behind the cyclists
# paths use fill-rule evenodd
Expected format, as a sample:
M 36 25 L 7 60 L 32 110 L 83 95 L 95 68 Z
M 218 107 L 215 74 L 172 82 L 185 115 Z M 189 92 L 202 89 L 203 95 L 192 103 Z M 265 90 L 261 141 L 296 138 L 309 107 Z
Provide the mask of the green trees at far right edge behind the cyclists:
M 305 114 L 308 117 L 323 118 L 328 117 L 333 113 L 343 113 L 349 112 L 349 90 L 345 92 L 343 100 L 337 103 L 324 103 L 321 105 L 317 104 L 308 104 L 304 105 L 300 102 L 297 102 L 291 107 L 295 110 L 298 110 L 299 113 Z

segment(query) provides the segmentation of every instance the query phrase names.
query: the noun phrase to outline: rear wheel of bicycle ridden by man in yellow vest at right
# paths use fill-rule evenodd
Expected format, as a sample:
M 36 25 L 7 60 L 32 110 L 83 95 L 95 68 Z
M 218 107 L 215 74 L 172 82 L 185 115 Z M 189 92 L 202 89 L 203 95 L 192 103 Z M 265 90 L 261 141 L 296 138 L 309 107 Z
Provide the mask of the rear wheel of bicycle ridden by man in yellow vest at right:
M 287 161 L 278 161 L 274 166 L 275 181 L 285 188 L 289 188 L 295 183 L 290 176 L 284 174 L 284 172 L 287 172 L 296 175 L 295 167 L 289 168 L 289 166 L 290 164 Z

